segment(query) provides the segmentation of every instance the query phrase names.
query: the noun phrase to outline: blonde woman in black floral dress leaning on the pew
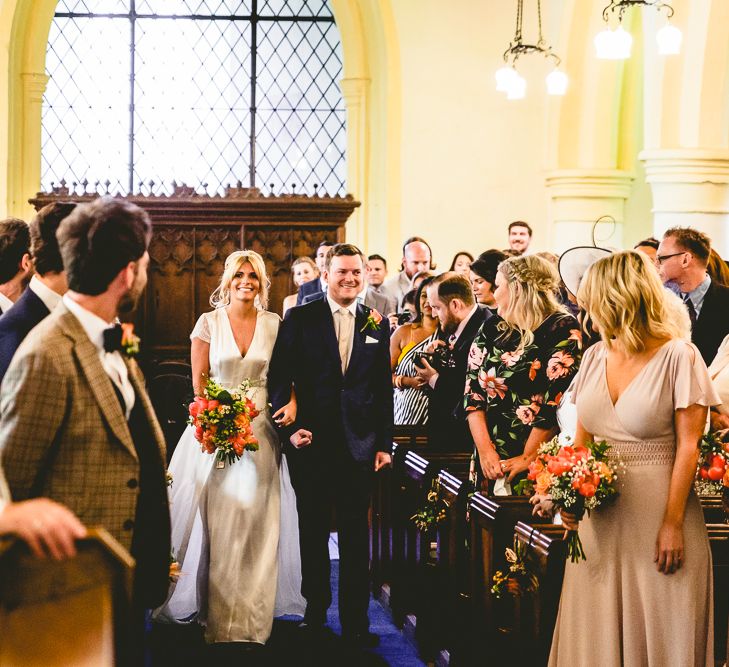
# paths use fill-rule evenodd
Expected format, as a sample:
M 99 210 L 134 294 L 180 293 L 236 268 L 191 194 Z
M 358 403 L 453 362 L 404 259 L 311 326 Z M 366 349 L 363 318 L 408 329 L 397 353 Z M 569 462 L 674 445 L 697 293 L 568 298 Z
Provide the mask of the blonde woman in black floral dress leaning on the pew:
M 557 270 L 541 257 L 502 262 L 498 318 L 486 322 L 469 353 L 465 408 L 476 472 L 498 480 L 499 494 L 510 493 L 556 431 L 556 407 L 579 367 L 579 324 L 557 301 L 558 285 Z

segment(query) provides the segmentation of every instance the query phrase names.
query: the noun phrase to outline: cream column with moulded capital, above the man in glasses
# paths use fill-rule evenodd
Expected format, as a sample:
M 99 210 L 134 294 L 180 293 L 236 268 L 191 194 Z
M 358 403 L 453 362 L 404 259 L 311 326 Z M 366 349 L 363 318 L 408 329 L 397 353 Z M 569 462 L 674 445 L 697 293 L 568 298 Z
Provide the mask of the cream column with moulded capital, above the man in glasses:
M 654 149 L 639 158 L 653 192 L 656 238 L 669 227 L 694 227 L 729 257 L 729 149 Z

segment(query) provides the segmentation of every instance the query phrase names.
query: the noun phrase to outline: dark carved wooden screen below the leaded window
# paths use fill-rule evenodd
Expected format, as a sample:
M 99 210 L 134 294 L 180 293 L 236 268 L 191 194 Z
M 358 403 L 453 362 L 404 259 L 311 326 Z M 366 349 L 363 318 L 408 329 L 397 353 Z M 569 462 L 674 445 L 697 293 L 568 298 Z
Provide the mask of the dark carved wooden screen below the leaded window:
M 57 201 L 90 201 L 65 185 L 30 200 L 36 210 Z M 344 224 L 359 202 L 347 197 L 263 196 L 256 188 L 228 188 L 224 197 L 177 187 L 170 197 L 127 196 L 144 208 L 153 225 L 150 267 L 135 324 L 145 365 L 189 360 L 190 331 L 220 281 L 225 258 L 241 247 L 259 252 L 271 279 L 269 310 L 281 313 L 293 292 L 291 262 L 314 256 L 323 240 L 344 241 Z

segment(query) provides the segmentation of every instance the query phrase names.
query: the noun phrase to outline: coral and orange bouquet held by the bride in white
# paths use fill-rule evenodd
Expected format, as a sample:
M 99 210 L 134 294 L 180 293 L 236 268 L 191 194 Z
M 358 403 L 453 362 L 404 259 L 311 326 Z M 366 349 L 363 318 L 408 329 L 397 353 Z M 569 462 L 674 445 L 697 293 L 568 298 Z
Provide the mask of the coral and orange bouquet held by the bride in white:
M 204 396 L 196 396 L 190 403 L 188 423 L 195 427 L 202 451 L 215 454 L 219 468 L 226 461 L 228 465 L 237 461 L 244 450 L 258 449 L 251 424 L 259 410 L 247 395 L 252 386 L 247 380 L 228 390 L 208 378 Z

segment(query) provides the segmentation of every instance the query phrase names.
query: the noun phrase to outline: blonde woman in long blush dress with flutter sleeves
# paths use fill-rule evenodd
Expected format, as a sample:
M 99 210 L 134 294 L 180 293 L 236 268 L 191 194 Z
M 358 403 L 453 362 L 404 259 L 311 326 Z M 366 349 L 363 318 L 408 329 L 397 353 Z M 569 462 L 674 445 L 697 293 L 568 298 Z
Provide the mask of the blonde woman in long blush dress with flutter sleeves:
M 589 560 L 566 563 L 554 667 L 595 656 L 615 667 L 714 664 L 711 551 L 693 481 L 707 406 L 718 397 L 667 297 L 635 251 L 598 260 L 580 285 L 602 340 L 575 383 L 575 445 L 606 441 L 624 470 L 614 504 L 579 522 Z M 578 527 L 574 515 L 562 520 Z M 597 630 L 586 631 L 586 614 Z

